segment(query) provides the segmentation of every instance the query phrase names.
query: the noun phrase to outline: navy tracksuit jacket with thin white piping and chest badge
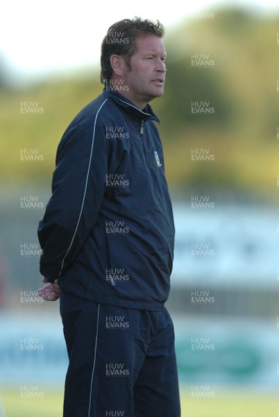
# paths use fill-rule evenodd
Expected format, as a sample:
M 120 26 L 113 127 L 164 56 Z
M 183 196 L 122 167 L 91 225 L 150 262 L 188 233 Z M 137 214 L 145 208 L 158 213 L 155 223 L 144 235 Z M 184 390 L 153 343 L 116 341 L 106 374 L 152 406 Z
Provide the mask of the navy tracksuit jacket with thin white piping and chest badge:
M 157 127 L 108 85 L 64 133 L 40 222 L 40 272 L 62 291 L 159 310 L 169 295 L 174 220 Z

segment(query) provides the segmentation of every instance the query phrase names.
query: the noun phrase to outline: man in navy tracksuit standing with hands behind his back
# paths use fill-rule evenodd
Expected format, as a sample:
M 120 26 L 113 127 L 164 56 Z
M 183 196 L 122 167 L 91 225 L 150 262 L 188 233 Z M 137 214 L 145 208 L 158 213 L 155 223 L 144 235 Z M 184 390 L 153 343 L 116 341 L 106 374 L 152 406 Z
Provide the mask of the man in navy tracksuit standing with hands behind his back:
M 44 300 L 60 297 L 69 354 L 65 417 L 179 417 L 174 328 L 164 307 L 174 220 L 149 101 L 162 96 L 160 22 L 112 25 L 103 93 L 58 147 L 40 222 Z

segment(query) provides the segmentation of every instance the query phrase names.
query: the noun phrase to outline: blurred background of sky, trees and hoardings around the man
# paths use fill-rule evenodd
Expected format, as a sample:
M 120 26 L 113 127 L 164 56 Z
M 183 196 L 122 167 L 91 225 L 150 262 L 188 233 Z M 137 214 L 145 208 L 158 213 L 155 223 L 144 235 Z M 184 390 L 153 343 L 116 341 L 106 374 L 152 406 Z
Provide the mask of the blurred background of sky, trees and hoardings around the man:
M 111 24 L 134 15 L 160 19 L 166 29 L 167 83 L 164 97 L 151 104 L 162 120 L 176 222 L 167 305 L 176 327 L 182 416 L 279 415 L 276 3 L 6 4 L 1 417 L 62 415 L 67 353 L 58 302 L 37 296 L 37 224 L 62 133 L 101 93 L 101 40 Z

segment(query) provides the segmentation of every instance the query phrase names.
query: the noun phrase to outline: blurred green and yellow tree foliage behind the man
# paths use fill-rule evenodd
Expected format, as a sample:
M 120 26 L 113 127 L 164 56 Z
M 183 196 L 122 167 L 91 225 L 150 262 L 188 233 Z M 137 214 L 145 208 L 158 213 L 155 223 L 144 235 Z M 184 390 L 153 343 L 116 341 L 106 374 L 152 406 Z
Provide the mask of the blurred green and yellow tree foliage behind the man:
M 152 105 L 162 120 L 159 129 L 172 186 L 274 192 L 278 32 L 278 16 L 250 9 L 220 9 L 212 18 L 189 18 L 169 29 L 166 90 Z M 49 182 L 67 124 L 101 89 L 96 73 L 3 92 L 1 178 Z M 37 102 L 43 113 L 22 114 L 24 101 Z M 211 113 L 197 113 L 197 103 Z M 44 161 L 23 163 L 21 149 L 39 149 Z M 193 161 L 193 149 L 205 149 L 214 161 Z

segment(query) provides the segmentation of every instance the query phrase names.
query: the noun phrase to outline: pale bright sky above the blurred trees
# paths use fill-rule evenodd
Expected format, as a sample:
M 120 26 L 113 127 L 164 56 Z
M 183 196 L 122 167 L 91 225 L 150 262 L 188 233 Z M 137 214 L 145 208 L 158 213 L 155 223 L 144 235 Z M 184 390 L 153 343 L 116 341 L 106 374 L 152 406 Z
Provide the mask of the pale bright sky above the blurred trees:
M 6 0 L 0 24 L 0 63 L 15 76 L 35 77 L 99 63 L 100 46 L 117 20 L 140 16 L 168 28 L 193 19 L 201 10 L 248 6 L 278 13 L 278 0 Z

